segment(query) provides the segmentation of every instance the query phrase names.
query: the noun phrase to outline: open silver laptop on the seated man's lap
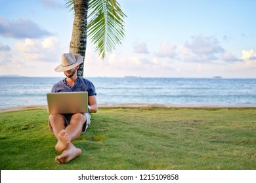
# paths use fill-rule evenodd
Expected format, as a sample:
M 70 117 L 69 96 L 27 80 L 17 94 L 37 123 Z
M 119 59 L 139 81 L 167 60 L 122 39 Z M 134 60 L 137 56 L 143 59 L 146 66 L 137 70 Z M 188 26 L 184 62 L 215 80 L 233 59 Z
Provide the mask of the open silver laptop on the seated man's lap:
M 49 114 L 88 112 L 88 92 L 47 93 Z

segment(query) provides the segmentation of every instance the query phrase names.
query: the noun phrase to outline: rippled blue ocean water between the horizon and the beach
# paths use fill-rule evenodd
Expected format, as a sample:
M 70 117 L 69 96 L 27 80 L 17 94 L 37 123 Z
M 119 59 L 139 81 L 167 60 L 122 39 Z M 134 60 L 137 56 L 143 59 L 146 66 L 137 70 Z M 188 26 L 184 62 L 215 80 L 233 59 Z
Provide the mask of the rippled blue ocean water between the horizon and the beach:
M 256 79 L 88 78 L 98 104 L 256 105 Z M 0 77 L 0 107 L 47 105 L 46 93 L 62 78 Z

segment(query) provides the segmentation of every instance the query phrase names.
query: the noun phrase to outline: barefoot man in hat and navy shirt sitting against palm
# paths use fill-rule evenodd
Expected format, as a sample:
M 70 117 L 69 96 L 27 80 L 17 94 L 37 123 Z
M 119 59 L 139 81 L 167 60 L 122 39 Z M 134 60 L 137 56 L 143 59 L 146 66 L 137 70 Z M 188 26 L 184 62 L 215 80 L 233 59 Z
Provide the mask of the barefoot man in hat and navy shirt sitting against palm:
M 55 71 L 64 72 L 66 78 L 54 84 L 52 92 L 88 92 L 89 112 L 97 112 L 95 86 L 89 80 L 77 77 L 82 62 L 83 57 L 79 54 L 62 54 L 62 62 Z M 55 158 L 57 163 L 67 163 L 81 154 L 81 149 L 76 148 L 72 141 L 85 133 L 90 123 L 89 113 L 52 114 L 49 117 L 49 127 L 58 141 L 55 149 L 62 152 Z

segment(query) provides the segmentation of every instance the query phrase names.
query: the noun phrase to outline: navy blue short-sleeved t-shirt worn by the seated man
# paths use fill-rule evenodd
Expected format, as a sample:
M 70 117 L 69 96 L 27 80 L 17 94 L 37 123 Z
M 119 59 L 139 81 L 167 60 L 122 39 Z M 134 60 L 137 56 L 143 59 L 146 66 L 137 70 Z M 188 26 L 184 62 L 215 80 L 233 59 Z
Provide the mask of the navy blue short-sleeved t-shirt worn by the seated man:
M 75 85 L 70 87 L 66 84 L 66 79 L 61 80 L 53 85 L 52 93 L 56 92 L 88 92 L 88 96 L 96 95 L 95 86 L 93 83 L 85 78 L 78 77 Z

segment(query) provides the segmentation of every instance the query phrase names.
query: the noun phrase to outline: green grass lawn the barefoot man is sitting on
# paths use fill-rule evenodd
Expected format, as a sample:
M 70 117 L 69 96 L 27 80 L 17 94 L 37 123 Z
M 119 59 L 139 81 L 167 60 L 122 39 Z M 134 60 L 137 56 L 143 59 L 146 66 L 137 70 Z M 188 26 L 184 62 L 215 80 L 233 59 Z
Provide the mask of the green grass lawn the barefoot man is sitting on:
M 99 108 L 58 165 L 45 109 L 0 113 L 3 169 L 256 169 L 256 108 Z

